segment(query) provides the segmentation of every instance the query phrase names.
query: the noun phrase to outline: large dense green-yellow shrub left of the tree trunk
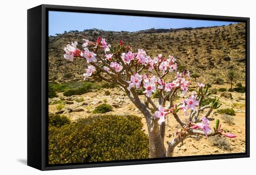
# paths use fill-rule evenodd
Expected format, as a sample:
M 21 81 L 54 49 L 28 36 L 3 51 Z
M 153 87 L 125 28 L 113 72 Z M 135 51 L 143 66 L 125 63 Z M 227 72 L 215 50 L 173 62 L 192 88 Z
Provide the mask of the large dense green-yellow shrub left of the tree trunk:
M 98 115 L 49 127 L 49 164 L 149 158 L 142 126 L 137 116 Z

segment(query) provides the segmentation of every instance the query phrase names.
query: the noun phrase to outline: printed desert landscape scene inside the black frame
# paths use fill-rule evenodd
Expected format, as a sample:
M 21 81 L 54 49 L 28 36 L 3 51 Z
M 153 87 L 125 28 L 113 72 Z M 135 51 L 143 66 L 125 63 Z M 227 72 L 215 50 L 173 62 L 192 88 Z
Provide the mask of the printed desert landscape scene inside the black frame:
M 245 23 L 48 12 L 48 164 L 245 153 Z

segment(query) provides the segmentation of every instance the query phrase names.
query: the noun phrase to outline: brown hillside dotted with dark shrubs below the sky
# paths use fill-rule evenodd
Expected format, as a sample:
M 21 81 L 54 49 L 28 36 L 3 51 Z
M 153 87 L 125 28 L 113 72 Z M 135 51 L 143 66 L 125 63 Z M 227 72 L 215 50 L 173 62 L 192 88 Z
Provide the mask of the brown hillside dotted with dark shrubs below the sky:
M 198 79 L 212 83 L 214 76 L 226 80 L 226 74 L 233 70 L 237 81 L 245 81 L 245 23 L 222 27 L 197 27 L 180 29 L 148 29 L 137 32 L 114 32 L 90 29 L 65 32 L 49 37 L 49 81 L 62 83 L 80 81 L 84 73 L 85 61 L 75 62 L 63 59 L 63 48 L 71 41 L 95 40 L 101 36 L 113 46 L 121 38 L 126 45 L 146 50 L 151 57 L 162 53 L 173 55 L 178 66 L 191 73 L 202 74 Z

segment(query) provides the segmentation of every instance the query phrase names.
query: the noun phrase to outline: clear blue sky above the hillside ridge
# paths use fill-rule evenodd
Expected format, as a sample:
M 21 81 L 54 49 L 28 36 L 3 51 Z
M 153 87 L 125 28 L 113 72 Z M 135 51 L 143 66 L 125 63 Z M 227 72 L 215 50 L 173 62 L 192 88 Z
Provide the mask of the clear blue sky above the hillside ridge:
M 209 27 L 229 25 L 236 22 L 212 20 L 185 20 L 113 14 L 76 13 L 49 11 L 49 35 L 64 31 L 98 28 L 110 31 L 134 32 L 149 28 Z

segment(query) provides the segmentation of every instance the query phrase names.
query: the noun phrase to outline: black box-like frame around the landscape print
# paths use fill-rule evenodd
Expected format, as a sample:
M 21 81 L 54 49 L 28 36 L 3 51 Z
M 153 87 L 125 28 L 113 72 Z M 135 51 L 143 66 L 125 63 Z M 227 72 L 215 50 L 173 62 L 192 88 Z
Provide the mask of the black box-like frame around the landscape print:
M 244 22 L 246 25 L 246 151 L 245 153 L 198 155 L 171 158 L 154 158 L 129 161 L 110 161 L 49 165 L 47 163 L 48 115 L 48 11 L 121 14 L 197 20 Z M 40 170 L 90 168 L 148 163 L 201 161 L 249 157 L 249 18 L 186 13 L 149 12 L 137 10 L 106 9 L 40 5 L 27 10 L 27 165 Z

